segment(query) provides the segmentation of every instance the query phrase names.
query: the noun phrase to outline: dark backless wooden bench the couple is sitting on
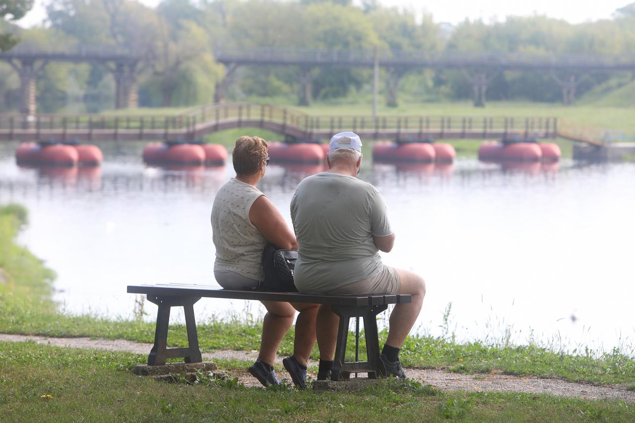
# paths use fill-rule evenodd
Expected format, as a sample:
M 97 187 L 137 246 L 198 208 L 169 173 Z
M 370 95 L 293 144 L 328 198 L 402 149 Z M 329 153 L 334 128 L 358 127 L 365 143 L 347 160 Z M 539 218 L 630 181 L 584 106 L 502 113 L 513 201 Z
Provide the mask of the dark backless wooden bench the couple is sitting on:
M 385 377 L 386 370 L 379 354 L 379 337 L 377 333 L 377 314 L 387 309 L 389 304 L 408 303 L 410 295 L 311 295 L 298 292 L 260 292 L 225 290 L 217 286 L 206 285 L 129 285 L 128 293 L 147 295 L 147 299 L 158 305 L 154 346 L 148 356 L 148 365 L 164 365 L 168 358 L 183 358 L 185 363 L 200 363 L 199 349 L 194 319 L 194 303 L 202 297 L 309 302 L 329 304 L 333 312 L 340 316 L 340 326 L 335 347 L 335 364 L 331 371 L 332 380 L 348 380 L 351 373 L 368 373 L 370 379 Z M 183 307 L 185 326 L 187 328 L 187 348 L 168 348 L 168 323 L 171 307 Z M 346 340 L 349 334 L 351 318 L 364 319 L 366 335 L 367 361 L 345 361 Z

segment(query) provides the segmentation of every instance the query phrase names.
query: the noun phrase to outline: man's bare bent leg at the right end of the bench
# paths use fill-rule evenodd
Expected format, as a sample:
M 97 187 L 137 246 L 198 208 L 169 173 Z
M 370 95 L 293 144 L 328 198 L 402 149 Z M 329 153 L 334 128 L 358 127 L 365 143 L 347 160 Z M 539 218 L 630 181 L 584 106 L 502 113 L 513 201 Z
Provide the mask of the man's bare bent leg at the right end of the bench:
M 395 269 L 399 275 L 399 293 L 412 295 L 409 304 L 397 304 L 392 310 L 386 345 L 401 348 L 415 325 L 425 297 L 425 281 L 413 272 Z M 318 338 L 319 343 L 319 338 Z

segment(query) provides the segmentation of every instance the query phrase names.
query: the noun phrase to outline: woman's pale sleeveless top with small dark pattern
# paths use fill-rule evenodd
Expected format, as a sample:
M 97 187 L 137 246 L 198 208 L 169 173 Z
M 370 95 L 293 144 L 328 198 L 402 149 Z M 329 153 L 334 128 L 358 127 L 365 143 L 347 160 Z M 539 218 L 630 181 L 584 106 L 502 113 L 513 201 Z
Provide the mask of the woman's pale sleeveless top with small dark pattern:
M 249 210 L 264 195 L 250 184 L 231 178 L 218 190 L 211 208 L 214 270 L 236 272 L 262 281 L 262 252 L 267 241 L 251 224 Z

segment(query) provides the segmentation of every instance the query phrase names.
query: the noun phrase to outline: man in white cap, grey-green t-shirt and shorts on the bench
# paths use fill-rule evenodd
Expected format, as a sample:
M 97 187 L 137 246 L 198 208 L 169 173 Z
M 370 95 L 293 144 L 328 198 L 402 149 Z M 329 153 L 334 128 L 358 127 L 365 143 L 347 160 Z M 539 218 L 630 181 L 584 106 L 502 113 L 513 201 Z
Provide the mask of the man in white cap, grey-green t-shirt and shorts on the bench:
M 381 355 L 388 375 L 404 378 L 399 349 L 421 310 L 425 282 L 382 263 L 379 251 L 390 252 L 395 235 L 377 189 L 356 178 L 361 159 L 358 135 L 340 132 L 331 138 L 329 170 L 305 178 L 295 190 L 291 220 L 299 257 L 294 281 L 304 293 L 412 295 L 410 304 L 397 304 L 392 311 Z M 318 379 L 326 379 L 333 367 L 338 321 L 329 305 L 321 305 Z

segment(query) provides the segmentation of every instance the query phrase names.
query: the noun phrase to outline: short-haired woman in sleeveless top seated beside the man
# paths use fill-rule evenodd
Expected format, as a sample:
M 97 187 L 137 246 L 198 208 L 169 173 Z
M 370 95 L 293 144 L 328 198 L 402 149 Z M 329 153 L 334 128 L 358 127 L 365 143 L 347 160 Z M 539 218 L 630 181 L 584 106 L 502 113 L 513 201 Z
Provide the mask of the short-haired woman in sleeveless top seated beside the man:
M 211 227 L 216 246 L 214 276 L 220 286 L 250 290 L 264 279 L 262 252 L 267 241 L 284 249 L 297 250 L 295 235 L 269 198 L 256 185 L 269 164 L 267 142 L 259 137 L 240 137 L 232 152 L 236 177 L 218 190 L 211 209 Z M 249 372 L 264 386 L 276 385 L 273 362 L 284 335 L 291 328 L 295 311 L 293 355 L 283 360 L 295 386 L 304 389 L 309 356 L 316 340 L 317 304 L 263 301 L 267 314 L 262 325 L 258 359 Z

